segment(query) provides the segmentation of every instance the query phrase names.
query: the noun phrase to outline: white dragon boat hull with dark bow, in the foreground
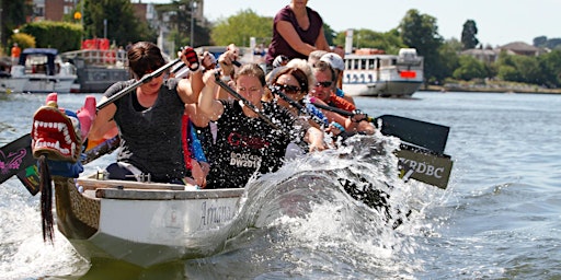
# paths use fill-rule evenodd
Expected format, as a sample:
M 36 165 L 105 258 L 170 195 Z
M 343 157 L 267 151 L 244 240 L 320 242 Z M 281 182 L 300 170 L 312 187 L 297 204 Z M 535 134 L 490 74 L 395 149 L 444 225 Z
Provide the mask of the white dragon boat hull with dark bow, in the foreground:
M 58 228 L 80 255 L 140 267 L 221 249 L 243 194 L 243 189 L 184 190 L 170 184 L 79 179 L 87 188 L 80 194 L 71 179 L 55 182 Z M 70 194 L 69 201 L 64 201 L 65 194 Z M 77 207 L 79 201 L 90 207 Z M 90 219 L 76 214 L 80 210 L 90 212 Z

